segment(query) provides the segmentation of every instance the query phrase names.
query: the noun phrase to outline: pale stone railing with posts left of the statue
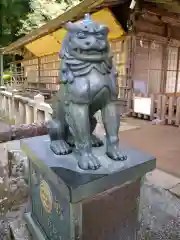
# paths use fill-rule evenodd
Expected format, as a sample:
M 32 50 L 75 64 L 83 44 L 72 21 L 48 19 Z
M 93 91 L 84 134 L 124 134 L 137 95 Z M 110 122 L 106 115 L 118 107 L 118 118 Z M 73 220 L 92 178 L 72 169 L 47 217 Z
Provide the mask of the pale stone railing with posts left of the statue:
M 17 90 L 0 91 L 0 114 L 13 124 L 30 124 L 51 119 L 52 108 L 44 96 L 23 97 Z

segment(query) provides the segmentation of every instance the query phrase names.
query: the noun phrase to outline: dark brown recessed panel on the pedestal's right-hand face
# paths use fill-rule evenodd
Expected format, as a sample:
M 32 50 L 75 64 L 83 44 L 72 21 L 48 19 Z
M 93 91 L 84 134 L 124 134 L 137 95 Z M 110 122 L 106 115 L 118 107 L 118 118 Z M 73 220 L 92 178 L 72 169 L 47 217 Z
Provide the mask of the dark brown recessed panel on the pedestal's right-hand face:
M 140 181 L 107 190 L 82 204 L 82 239 L 136 240 Z

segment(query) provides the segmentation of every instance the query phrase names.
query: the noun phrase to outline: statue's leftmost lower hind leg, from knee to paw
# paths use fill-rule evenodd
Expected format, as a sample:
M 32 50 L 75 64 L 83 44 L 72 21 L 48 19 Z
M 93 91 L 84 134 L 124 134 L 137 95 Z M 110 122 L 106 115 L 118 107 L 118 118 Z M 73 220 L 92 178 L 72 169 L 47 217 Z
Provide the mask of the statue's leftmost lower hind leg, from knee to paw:
M 66 155 L 72 152 L 71 147 L 65 141 L 65 127 L 58 120 L 50 120 L 46 124 L 51 139 L 50 148 L 56 155 Z

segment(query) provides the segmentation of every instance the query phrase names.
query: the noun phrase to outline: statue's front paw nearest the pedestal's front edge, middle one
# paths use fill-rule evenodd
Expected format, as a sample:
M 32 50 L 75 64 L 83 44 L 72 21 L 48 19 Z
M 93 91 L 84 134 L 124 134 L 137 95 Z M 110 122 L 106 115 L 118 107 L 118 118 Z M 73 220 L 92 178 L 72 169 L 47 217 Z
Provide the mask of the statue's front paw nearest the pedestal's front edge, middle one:
M 78 165 L 83 170 L 97 170 L 101 167 L 99 160 L 92 153 L 84 153 L 80 156 Z

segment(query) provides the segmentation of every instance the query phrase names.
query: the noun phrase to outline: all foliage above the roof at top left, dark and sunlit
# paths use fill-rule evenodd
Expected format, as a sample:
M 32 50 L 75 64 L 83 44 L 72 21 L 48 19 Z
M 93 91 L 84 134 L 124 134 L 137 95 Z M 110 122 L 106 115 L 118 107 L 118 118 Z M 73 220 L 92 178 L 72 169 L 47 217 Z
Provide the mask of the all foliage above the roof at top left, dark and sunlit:
M 0 0 L 0 47 L 39 28 L 82 0 Z

